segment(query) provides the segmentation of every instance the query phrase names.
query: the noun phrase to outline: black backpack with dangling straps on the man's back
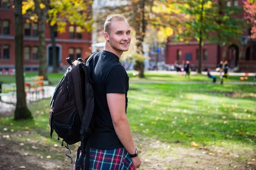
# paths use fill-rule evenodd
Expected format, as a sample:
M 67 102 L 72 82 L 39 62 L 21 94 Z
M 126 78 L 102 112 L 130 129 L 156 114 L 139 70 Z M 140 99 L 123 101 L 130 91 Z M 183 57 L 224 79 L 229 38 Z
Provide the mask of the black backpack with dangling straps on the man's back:
M 69 151 L 69 144 L 81 141 L 81 150 L 84 151 L 86 143 L 86 153 L 90 151 L 90 135 L 93 129 L 93 109 L 94 98 L 92 80 L 90 79 L 89 61 L 98 51 L 91 53 L 85 60 L 79 58 L 73 63 L 70 58 L 67 68 L 61 81 L 58 83 L 52 95 L 49 110 L 50 136 L 53 130 L 62 138 Z M 87 156 L 87 154 L 86 154 Z M 87 157 L 88 158 L 88 157 Z M 88 163 L 89 164 L 89 163 Z

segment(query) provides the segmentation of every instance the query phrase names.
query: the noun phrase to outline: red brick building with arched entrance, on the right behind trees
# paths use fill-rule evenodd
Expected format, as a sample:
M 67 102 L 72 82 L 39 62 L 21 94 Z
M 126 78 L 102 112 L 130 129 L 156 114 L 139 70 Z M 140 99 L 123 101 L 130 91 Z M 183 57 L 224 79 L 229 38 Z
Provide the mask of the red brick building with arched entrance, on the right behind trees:
M 216 3 L 219 3 L 216 0 Z M 227 1 L 227 6 L 243 6 L 242 0 Z M 244 12 L 236 14 L 236 17 L 243 18 Z M 228 61 L 230 68 L 239 66 L 240 71 L 256 71 L 256 40 L 250 40 L 248 36 L 250 30 L 244 31 L 241 41 L 233 42 L 231 45 L 212 44 L 204 42 L 202 46 L 202 68 L 216 68 L 216 65 L 222 61 Z M 176 60 L 179 64 L 182 61 L 189 60 L 192 68 L 198 67 L 199 46 L 197 41 L 172 42 L 169 37 L 166 44 L 166 64 L 173 64 Z

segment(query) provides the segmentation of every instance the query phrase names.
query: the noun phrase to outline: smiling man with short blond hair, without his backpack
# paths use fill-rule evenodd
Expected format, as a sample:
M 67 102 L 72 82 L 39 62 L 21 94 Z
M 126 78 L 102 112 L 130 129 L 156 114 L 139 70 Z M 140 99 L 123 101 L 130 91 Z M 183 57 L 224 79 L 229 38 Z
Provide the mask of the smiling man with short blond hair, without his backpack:
M 136 170 L 141 161 L 126 117 L 129 77 L 119 62 L 131 43 L 131 30 L 124 16 L 114 14 L 104 24 L 105 50 L 90 62 L 94 91 L 95 128 L 91 138 L 90 170 Z M 77 156 L 75 170 L 85 156 Z

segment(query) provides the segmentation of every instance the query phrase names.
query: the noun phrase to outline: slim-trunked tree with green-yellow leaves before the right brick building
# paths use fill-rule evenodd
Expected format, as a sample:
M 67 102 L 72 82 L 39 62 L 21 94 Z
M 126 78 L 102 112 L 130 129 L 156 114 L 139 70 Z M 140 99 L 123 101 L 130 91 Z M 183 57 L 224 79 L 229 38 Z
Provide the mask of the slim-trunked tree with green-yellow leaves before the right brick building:
M 243 32 L 243 20 L 234 17 L 242 8 L 227 6 L 225 0 L 185 0 L 180 10 L 185 14 L 185 27 L 176 32 L 180 41 L 198 40 L 198 73 L 201 74 L 202 45 L 204 40 L 221 45 L 238 40 Z M 180 25 L 184 25 L 181 23 Z

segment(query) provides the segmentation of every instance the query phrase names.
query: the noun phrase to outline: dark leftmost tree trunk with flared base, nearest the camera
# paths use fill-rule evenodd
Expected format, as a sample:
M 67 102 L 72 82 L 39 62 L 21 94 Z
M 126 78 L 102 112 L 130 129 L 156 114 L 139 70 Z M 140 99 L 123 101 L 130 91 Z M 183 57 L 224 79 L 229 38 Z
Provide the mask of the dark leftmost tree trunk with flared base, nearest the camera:
M 15 79 L 17 102 L 14 119 L 30 119 L 31 112 L 26 105 L 24 75 L 23 75 L 23 15 L 22 0 L 14 0 L 15 4 Z

